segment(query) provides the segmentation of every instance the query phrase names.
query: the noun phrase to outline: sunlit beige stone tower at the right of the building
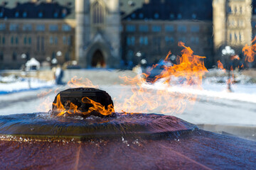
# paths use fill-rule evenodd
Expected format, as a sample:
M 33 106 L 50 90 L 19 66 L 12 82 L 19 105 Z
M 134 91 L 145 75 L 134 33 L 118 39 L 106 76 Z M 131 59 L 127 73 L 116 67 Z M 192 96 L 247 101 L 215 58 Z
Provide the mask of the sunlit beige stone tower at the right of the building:
M 239 52 L 245 44 L 250 44 L 251 4 L 252 0 L 213 0 L 213 42 L 216 55 L 220 55 L 225 45 Z

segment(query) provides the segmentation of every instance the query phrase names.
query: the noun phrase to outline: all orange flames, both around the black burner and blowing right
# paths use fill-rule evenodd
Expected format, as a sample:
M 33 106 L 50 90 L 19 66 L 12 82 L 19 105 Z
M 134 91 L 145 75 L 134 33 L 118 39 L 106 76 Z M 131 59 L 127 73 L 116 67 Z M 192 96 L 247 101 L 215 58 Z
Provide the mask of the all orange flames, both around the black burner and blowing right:
M 193 54 L 191 47 L 186 47 L 183 42 L 178 42 L 179 47 L 183 47 L 181 57 L 177 57 L 177 64 L 166 64 L 161 74 L 153 81 L 149 81 L 149 74 L 139 74 L 137 77 L 121 77 L 125 86 L 124 91 L 119 91 L 119 96 L 114 98 L 115 110 L 126 113 L 182 113 L 187 103 L 196 101 L 196 95 L 188 91 L 182 91 L 181 87 L 188 87 L 189 90 L 201 89 L 203 74 L 207 72 L 201 57 Z M 169 56 L 166 56 L 164 62 L 171 63 Z M 154 69 L 154 65 L 151 69 Z M 124 85 L 125 85 L 124 84 Z M 74 77 L 68 82 L 68 86 L 74 87 L 93 87 L 92 82 L 88 79 L 78 79 Z M 127 88 L 129 90 L 127 90 Z M 177 90 L 178 89 L 178 90 Z M 58 116 L 65 113 L 79 113 L 83 115 L 92 112 L 100 113 L 101 115 L 110 115 L 114 112 L 112 104 L 110 106 L 102 106 L 100 103 L 92 101 L 90 98 L 82 98 L 82 103 L 90 104 L 91 107 L 86 112 L 82 112 L 75 106 L 74 103 L 68 103 L 68 106 L 63 106 L 60 95 L 57 96 L 56 103 L 53 106 L 58 111 Z

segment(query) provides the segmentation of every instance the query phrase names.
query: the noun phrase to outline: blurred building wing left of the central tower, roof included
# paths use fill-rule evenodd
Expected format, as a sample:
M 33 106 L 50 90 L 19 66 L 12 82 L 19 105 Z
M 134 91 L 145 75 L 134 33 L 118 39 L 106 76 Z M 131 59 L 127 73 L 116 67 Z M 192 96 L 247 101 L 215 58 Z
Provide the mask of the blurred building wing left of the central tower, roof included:
M 0 69 L 18 69 L 31 57 L 41 63 L 56 58 L 60 64 L 75 59 L 75 4 L 50 0 L 0 3 Z

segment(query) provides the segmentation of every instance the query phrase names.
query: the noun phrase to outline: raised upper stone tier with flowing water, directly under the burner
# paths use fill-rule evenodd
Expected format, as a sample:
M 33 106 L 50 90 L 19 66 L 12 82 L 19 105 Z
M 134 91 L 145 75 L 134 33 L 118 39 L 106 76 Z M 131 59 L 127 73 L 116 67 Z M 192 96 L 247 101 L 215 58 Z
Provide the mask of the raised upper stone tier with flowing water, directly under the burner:
M 142 113 L 113 113 L 105 118 L 93 115 L 87 118 L 53 117 L 48 113 L 0 116 L 2 138 L 84 140 L 94 137 L 158 137 L 181 135 L 197 129 L 196 125 L 174 116 Z

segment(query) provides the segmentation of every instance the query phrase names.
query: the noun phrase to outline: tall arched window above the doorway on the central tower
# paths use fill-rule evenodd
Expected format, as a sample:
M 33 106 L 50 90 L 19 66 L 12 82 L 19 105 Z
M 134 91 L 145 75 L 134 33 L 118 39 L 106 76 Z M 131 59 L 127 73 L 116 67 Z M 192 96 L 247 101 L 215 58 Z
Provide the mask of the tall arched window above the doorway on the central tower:
M 99 1 L 92 4 L 92 24 L 102 25 L 105 23 L 105 6 Z

